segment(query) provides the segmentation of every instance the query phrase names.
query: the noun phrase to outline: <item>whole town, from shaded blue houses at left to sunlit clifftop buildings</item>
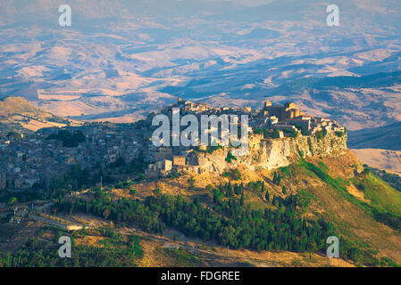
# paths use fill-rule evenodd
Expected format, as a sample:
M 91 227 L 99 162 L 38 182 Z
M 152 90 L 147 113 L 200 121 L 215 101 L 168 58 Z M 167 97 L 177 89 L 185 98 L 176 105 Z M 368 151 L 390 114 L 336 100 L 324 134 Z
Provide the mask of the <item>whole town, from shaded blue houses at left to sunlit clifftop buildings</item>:
M 341 136 L 345 133 L 345 128 L 338 122 L 308 116 L 292 102 L 275 106 L 266 101 L 262 110 L 252 110 L 249 107 L 213 108 L 203 102 L 179 98 L 177 103 L 164 108 L 161 113 L 171 116 L 174 108 L 180 109 L 181 115 L 196 117 L 246 115 L 249 118 L 249 134 L 261 136 L 267 142 L 322 134 Z M 2 134 L 0 190 L 44 188 L 71 166 L 86 169 L 93 176 L 106 172 L 110 179 L 115 180 L 156 178 L 180 171 L 205 171 L 198 154 L 212 153 L 219 147 L 155 147 L 151 139 L 155 130 L 152 126 L 154 117 L 154 113 L 149 114 L 145 120 L 135 124 L 85 123 L 82 126 L 65 126 L 63 131 L 59 127 L 47 127 L 35 134 Z M 75 134 L 81 134 L 81 139 L 72 144 L 63 137 Z M 120 167 L 131 169 L 121 172 Z M 101 178 L 95 179 L 100 182 Z

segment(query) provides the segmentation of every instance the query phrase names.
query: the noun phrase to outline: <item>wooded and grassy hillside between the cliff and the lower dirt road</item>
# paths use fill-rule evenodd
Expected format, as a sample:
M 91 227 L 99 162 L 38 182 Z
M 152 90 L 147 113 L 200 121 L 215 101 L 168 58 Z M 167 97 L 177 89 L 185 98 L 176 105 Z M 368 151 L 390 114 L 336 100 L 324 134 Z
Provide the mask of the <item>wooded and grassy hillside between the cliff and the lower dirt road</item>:
M 221 256 L 217 258 L 222 252 L 227 255 L 224 258 L 226 264 L 236 261 L 255 266 L 387 266 L 401 263 L 401 193 L 369 171 L 363 171 L 351 152 L 336 158 L 298 159 L 288 167 L 276 170 L 236 169 L 239 175 L 205 172 L 196 176 L 180 175 L 178 178 L 107 188 L 104 194 L 99 196 L 97 193 L 93 202 L 89 198 L 91 195 L 85 195 L 85 199 L 63 202 L 58 211 L 71 213 L 72 210 L 73 216 L 91 224 L 94 221 L 113 221 L 114 228 L 121 232 L 135 232 L 159 242 L 164 240 L 164 244 L 180 245 L 185 250 L 192 248 L 190 256 L 204 262 L 210 259 L 211 254 L 222 262 Z M 277 175 L 281 177 L 280 182 L 275 178 Z M 264 185 L 262 188 L 261 182 Z M 241 183 L 243 188 L 239 186 Z M 133 192 L 133 189 L 137 191 Z M 125 202 L 119 202 L 119 199 L 125 199 Z M 243 207 L 239 206 L 241 199 L 244 200 Z M 180 208 L 186 209 L 187 214 L 174 205 L 181 205 Z M 229 205 L 233 212 L 227 208 Z M 107 208 L 109 210 L 104 212 Z M 269 219 L 270 215 L 280 212 L 281 215 L 295 216 L 288 216 L 289 220 L 282 221 L 280 216 L 276 216 L 276 222 L 269 222 L 269 226 L 278 228 L 271 233 L 273 236 L 266 237 L 272 241 L 261 243 L 262 240 L 257 239 L 262 234 L 262 224 L 257 225 L 254 218 L 247 216 L 250 214 L 246 214 L 246 208 L 253 209 L 254 218 L 261 215 L 261 218 Z M 131 214 L 124 213 L 127 209 Z M 294 209 L 297 211 L 291 212 Z M 143 210 L 149 212 L 139 214 Z M 209 216 L 208 222 L 203 221 L 204 215 Z M 220 215 L 229 220 L 222 218 L 221 225 L 208 224 L 213 216 Z M 238 215 L 242 216 L 239 220 Z M 159 218 L 149 220 L 146 216 Z M 306 250 L 302 249 L 302 242 L 298 245 L 301 248 L 297 248 L 296 243 L 289 241 L 291 235 L 286 233 L 286 224 L 292 218 L 296 218 L 296 224 L 296 221 L 305 219 L 305 226 L 310 226 Z M 242 223 L 239 222 L 241 220 Z M 190 224 L 187 224 L 189 221 Z M 293 226 L 297 225 L 290 228 Z M 314 231 L 312 229 L 316 227 L 320 233 L 315 236 L 316 243 L 311 243 L 309 231 Z M 224 234 L 219 234 L 219 231 Z M 246 234 L 248 231 L 250 236 Z M 336 235 L 341 240 L 342 260 L 336 260 L 336 263 L 330 263 L 330 258 L 324 256 L 326 234 Z M 274 240 L 275 236 L 282 240 Z M 163 242 L 154 246 L 163 248 Z M 188 243 L 189 248 L 185 246 Z M 229 252 L 223 249 L 227 246 L 230 247 Z M 307 253 L 310 251 L 313 254 Z

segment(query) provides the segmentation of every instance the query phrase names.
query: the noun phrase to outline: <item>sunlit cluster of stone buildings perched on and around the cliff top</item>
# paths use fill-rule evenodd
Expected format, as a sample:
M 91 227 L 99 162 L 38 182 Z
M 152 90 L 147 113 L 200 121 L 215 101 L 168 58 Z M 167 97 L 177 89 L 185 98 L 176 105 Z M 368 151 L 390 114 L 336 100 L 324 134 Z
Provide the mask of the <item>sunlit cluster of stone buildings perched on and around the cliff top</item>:
M 180 98 L 176 104 L 173 104 L 167 108 L 164 108 L 161 112 L 169 117 L 171 117 L 173 109 L 180 109 L 180 114 L 184 115 L 194 115 L 196 118 L 200 118 L 203 115 L 215 115 L 217 117 L 221 115 L 237 115 L 243 116 L 246 115 L 249 118 L 249 134 L 251 138 L 251 142 L 253 144 L 257 144 L 257 151 L 263 148 L 262 141 L 272 142 L 272 140 L 286 140 L 286 138 L 295 138 L 295 137 L 323 137 L 326 134 L 333 135 L 338 138 L 342 137 L 343 134 L 346 134 L 346 129 L 344 126 L 341 126 L 338 122 L 330 120 L 330 118 L 313 118 L 312 116 L 306 115 L 301 110 L 299 110 L 295 103 L 286 102 L 284 106 L 273 106 L 272 102 L 265 101 L 262 110 L 252 110 L 250 107 L 244 107 L 241 109 L 238 108 L 213 108 L 203 102 L 189 102 L 182 101 Z M 146 122 L 147 124 L 151 124 L 152 118 L 155 114 L 150 115 Z M 238 123 L 238 127 L 240 123 Z M 209 130 L 210 133 L 210 130 Z M 255 142 L 255 137 L 257 142 Z M 252 138 L 254 140 L 252 140 Z M 347 139 L 344 141 L 344 138 L 341 140 L 343 145 L 340 147 L 343 150 L 347 149 Z M 251 143 L 252 144 L 252 143 Z M 312 142 L 309 140 L 307 148 L 311 147 Z M 324 148 L 324 144 L 323 148 Z M 330 149 L 331 145 L 328 147 Z M 155 148 L 153 145 L 149 144 L 149 148 L 151 157 L 149 161 L 155 161 L 155 163 L 151 163 L 148 165 L 146 169 L 146 175 L 151 177 L 168 175 L 171 171 L 190 171 L 193 173 L 201 173 L 203 171 L 223 171 L 224 167 L 227 166 L 225 163 L 226 155 L 229 150 L 223 151 L 222 160 L 221 157 L 217 159 L 217 161 L 212 162 L 212 166 L 207 166 L 208 162 L 212 159 L 203 159 L 203 156 L 199 156 L 201 153 L 209 153 L 211 154 L 213 151 L 219 149 L 219 147 L 211 147 L 205 146 L 199 143 L 198 147 L 160 147 Z M 267 147 L 268 149 L 269 147 Z M 297 147 L 299 149 L 299 146 Z M 289 149 L 288 149 L 289 151 Z M 311 152 L 306 150 L 305 152 Z M 252 155 L 252 151 L 247 155 L 249 158 Z M 280 155 L 277 155 L 280 157 Z M 265 159 L 275 161 L 280 158 L 272 158 L 271 155 L 265 156 Z M 214 158 L 215 159 L 215 158 Z M 219 161 L 220 159 L 220 161 Z M 255 157 L 253 158 L 255 160 Z M 237 160 L 237 158 L 236 158 Z M 249 159 L 247 159 L 249 160 Z M 259 158 L 261 160 L 261 158 Z M 263 159 L 262 159 L 263 160 Z M 285 159 L 286 160 L 286 159 Z M 280 165 L 280 163 L 276 165 L 266 165 L 263 164 L 263 161 L 259 161 L 261 164 L 259 166 L 264 166 L 268 168 L 281 167 L 285 166 Z M 287 161 L 288 162 L 288 161 Z M 234 165 L 240 164 L 255 164 L 255 161 L 250 162 L 246 161 L 246 159 L 239 159 L 237 163 Z

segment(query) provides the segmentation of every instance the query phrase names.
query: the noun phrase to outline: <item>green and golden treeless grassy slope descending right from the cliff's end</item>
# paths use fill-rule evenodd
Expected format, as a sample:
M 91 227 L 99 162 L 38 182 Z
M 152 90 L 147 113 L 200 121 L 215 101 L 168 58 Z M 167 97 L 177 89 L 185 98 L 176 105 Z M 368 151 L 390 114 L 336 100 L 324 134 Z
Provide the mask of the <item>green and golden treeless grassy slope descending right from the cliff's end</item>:
M 290 167 L 295 179 L 286 183 L 297 189 L 307 189 L 317 198 L 310 214 L 329 219 L 341 234 L 355 241 L 358 247 L 370 250 L 373 256 L 388 256 L 401 264 L 401 235 L 372 215 L 375 210 L 400 215 L 401 193 L 370 173 L 355 175 L 362 169 L 351 152 L 347 156 L 308 159 L 308 162 L 318 166 L 329 179 L 322 179 L 305 164 L 299 164 Z M 363 188 L 363 191 L 353 195 L 349 191 L 351 188 Z

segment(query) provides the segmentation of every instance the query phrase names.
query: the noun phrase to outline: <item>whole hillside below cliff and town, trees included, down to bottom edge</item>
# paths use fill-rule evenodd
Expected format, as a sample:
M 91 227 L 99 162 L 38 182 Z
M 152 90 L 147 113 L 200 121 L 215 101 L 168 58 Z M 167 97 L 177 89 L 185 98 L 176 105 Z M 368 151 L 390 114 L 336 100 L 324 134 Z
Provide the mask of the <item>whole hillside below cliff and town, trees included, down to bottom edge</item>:
M 299 154 L 287 167 L 271 170 L 232 164 L 221 174 L 108 184 L 67 195 L 54 209 L 89 227 L 74 233 L 79 246 L 103 248 L 97 256 L 80 248 L 76 264 L 88 254 L 96 263 L 118 266 L 401 264 L 401 193 L 350 151 L 305 159 Z M 43 224 L 31 226 L 36 230 L 29 236 L 40 244 L 54 236 Z M 132 235 L 143 254 L 135 249 L 129 260 L 121 250 L 137 242 Z M 340 239 L 340 259 L 325 256 L 330 235 Z M 3 240 L 0 248 L 15 244 Z

